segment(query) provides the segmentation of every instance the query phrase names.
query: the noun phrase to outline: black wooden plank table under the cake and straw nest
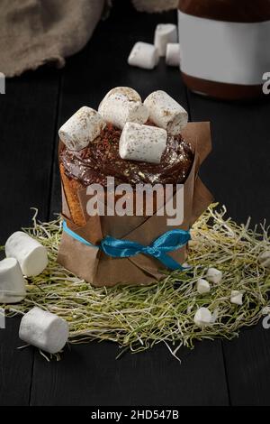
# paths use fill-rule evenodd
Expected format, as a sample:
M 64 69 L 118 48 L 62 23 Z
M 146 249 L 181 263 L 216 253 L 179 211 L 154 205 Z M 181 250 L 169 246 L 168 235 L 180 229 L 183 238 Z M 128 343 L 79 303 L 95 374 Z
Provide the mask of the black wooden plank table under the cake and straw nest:
M 269 218 L 270 104 L 236 105 L 188 92 L 178 69 L 131 68 L 135 41 L 152 41 L 157 23 L 175 14 L 138 14 L 116 5 L 83 51 L 67 66 L 29 72 L 7 81 L 0 97 L 0 243 L 31 224 L 30 207 L 48 220 L 60 211 L 58 127 L 80 106 L 97 107 L 115 86 L 146 97 L 160 88 L 189 111 L 210 120 L 213 152 L 202 179 L 238 222 Z M 1 66 L 1 65 L 0 65 Z M 1 69 L 0 69 L 1 70 Z M 270 69 L 266 69 L 270 70 Z M 0 330 L 1 405 L 269 405 L 270 330 L 242 330 L 233 341 L 202 342 L 182 349 L 182 364 L 157 346 L 115 360 L 118 346 L 71 346 L 60 362 L 47 363 L 34 348 L 18 350 L 20 319 Z

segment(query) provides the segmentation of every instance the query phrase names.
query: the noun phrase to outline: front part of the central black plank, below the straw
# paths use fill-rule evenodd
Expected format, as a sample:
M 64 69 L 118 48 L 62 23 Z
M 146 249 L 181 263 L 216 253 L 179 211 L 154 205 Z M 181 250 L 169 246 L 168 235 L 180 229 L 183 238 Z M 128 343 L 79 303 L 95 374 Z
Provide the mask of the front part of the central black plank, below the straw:
M 219 346 L 219 349 L 218 349 Z M 36 357 L 31 404 L 87 406 L 227 405 L 220 342 L 182 349 L 182 364 L 165 345 L 121 359 L 117 346 L 71 346 L 61 361 Z

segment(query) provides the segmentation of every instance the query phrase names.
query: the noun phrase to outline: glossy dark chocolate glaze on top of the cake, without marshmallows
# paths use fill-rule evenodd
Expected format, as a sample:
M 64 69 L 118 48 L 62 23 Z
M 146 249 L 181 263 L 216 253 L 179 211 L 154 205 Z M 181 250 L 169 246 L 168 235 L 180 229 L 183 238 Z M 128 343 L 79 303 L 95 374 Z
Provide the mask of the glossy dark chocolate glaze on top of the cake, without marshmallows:
M 78 180 L 86 187 L 93 183 L 105 186 L 108 176 L 115 178 L 115 184 L 131 185 L 180 184 L 188 176 L 193 164 L 193 152 L 180 134 L 168 134 L 166 151 L 158 164 L 121 159 L 120 136 L 121 130 L 107 124 L 103 132 L 85 149 L 71 152 L 63 146 L 59 159 L 67 177 Z

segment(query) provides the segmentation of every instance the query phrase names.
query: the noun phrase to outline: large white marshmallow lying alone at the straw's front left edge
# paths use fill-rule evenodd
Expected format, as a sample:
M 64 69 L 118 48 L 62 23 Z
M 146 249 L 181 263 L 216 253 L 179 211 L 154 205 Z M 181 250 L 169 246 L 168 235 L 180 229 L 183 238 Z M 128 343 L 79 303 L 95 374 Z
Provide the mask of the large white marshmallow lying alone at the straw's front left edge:
M 37 307 L 22 318 L 19 337 L 49 354 L 57 354 L 67 343 L 67 321 Z

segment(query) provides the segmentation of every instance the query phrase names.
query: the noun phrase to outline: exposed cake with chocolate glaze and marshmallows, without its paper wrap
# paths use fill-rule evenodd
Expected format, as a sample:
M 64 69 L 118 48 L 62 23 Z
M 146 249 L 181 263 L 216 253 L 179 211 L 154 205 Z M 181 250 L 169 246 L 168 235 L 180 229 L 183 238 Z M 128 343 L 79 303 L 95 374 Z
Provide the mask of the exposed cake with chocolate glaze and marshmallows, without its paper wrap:
M 83 118 L 82 118 L 83 115 Z M 144 102 L 132 88 L 113 88 L 98 111 L 83 107 L 59 130 L 59 167 L 67 205 L 77 226 L 85 225 L 78 191 L 107 177 L 115 185 L 184 183 L 193 151 L 181 131 L 187 113 L 164 91 Z

